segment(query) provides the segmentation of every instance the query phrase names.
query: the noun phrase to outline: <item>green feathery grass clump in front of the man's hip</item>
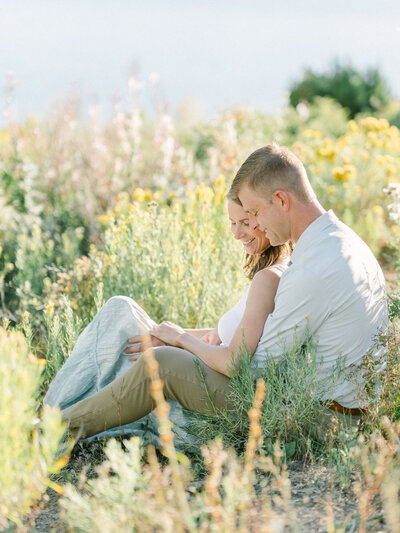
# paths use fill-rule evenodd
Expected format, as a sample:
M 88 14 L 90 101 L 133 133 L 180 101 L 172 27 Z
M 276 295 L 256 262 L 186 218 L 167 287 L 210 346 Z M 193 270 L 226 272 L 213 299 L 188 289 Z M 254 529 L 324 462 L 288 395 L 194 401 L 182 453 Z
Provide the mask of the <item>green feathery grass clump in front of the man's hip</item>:
M 293 345 L 277 364 L 266 358 L 262 367 L 257 369 L 257 377 L 265 382 L 260 427 L 266 454 L 272 453 L 273 443 L 278 440 L 288 459 L 304 459 L 321 448 L 318 426 L 321 420 L 329 418 L 331 412 L 320 398 L 330 397 L 335 381 L 340 379 L 340 368 L 338 366 L 329 383 L 322 383 L 318 380 L 315 354 L 315 345 L 307 341 L 302 346 Z M 186 415 L 191 420 L 189 431 L 202 444 L 219 437 L 224 446 L 234 447 L 241 455 L 249 433 L 247 413 L 256 390 L 251 358 L 243 348 L 232 363 L 230 378 L 229 408 L 214 408 L 209 414 L 186 411 Z M 207 387 L 204 378 L 203 383 Z

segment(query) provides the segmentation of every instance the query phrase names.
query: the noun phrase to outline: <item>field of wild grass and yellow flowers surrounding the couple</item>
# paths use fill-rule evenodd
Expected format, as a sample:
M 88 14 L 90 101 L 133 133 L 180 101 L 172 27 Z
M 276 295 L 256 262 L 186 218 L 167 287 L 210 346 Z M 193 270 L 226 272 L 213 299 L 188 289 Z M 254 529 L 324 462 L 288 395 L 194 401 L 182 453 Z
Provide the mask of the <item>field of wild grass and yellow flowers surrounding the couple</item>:
M 224 195 L 273 140 L 302 159 L 321 203 L 369 244 L 388 281 L 388 364 L 363 433 L 312 441 L 321 406 L 295 378 L 312 383 L 315 369 L 296 356 L 292 376 L 269 369 L 266 389 L 243 367 L 242 418 L 194 420 L 213 441 L 190 454 L 173 448 L 162 397 L 163 450 L 132 440 L 55 454 L 63 429 L 41 400 L 106 299 L 131 296 L 184 327 L 215 326 L 237 301 L 246 281 Z M 135 106 L 82 123 L 70 102 L 0 130 L 0 528 L 400 531 L 399 156 L 395 126 L 347 121 L 329 99 L 306 114 L 236 109 L 201 123 L 150 122 Z M 285 387 L 299 391 L 297 411 Z

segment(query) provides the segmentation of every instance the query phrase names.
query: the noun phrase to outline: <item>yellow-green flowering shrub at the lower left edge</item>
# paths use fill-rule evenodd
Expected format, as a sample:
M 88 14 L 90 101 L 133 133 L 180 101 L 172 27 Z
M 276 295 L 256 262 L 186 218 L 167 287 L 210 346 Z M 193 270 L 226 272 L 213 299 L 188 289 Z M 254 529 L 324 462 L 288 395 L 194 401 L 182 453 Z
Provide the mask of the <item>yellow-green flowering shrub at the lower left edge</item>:
M 49 472 L 65 458 L 54 460 L 63 426 L 57 411 L 36 412 L 35 395 L 41 361 L 28 353 L 22 333 L 0 328 L 0 527 L 21 517 L 51 485 Z

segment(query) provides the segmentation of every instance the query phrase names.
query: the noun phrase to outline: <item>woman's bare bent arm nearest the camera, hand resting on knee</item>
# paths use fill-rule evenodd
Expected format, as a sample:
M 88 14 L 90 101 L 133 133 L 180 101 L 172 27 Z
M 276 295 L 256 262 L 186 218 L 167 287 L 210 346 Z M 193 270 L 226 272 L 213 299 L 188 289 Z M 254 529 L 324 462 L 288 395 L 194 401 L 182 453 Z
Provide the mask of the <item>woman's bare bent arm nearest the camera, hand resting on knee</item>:
M 267 317 L 273 311 L 280 276 L 281 272 L 269 269 L 261 270 L 254 276 L 243 318 L 227 347 L 207 345 L 170 322 L 156 326 L 151 334 L 172 346 L 194 353 L 207 366 L 228 376 L 232 355 L 234 359 L 237 357 L 243 342 L 251 355 L 254 354 Z

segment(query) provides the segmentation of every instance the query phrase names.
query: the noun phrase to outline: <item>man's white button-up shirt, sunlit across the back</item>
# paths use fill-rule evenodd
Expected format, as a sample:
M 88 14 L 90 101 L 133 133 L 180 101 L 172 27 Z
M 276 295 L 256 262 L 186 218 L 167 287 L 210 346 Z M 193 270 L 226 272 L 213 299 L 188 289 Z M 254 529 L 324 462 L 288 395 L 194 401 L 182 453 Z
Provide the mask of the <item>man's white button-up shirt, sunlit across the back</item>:
M 294 343 L 311 337 L 321 380 L 341 375 L 327 395 L 344 407 L 358 407 L 364 385 L 360 365 L 368 359 L 385 366 L 388 311 L 382 270 L 365 242 L 332 211 L 318 217 L 300 236 L 275 296 L 252 365 L 266 357 L 278 362 Z

